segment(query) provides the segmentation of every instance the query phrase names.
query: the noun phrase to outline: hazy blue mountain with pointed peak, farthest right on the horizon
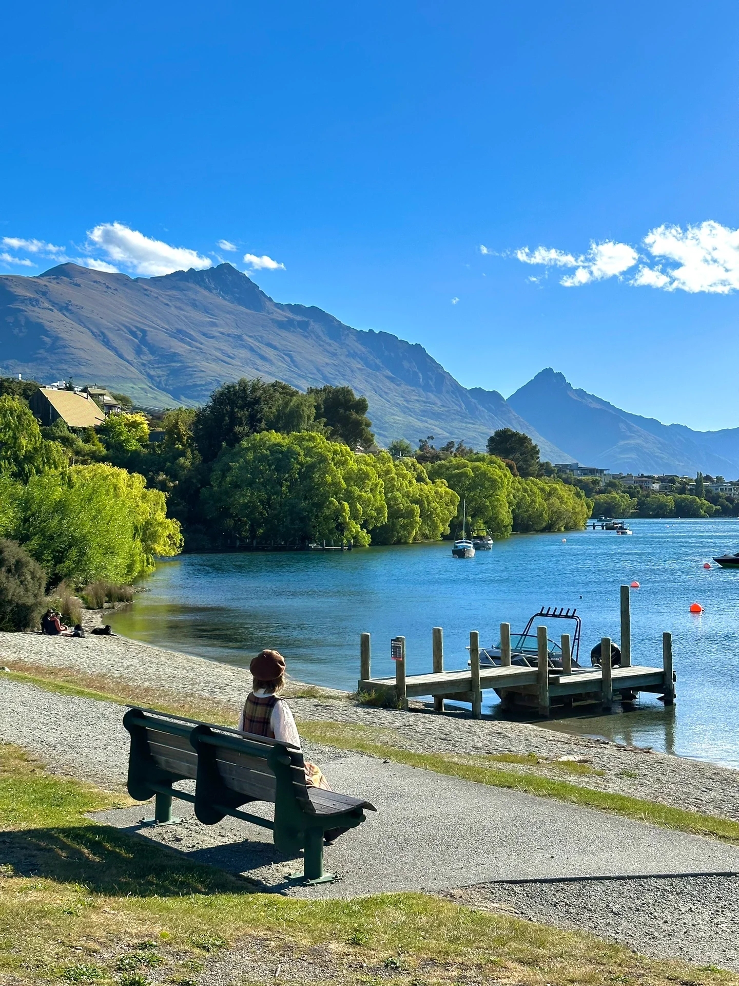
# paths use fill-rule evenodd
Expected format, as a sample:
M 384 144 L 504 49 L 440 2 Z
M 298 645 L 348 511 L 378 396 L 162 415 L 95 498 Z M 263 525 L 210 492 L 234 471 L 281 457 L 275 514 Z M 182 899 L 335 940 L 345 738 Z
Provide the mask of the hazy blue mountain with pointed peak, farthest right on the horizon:
M 739 475 L 739 428 L 698 432 L 663 425 L 574 389 L 552 369 L 542 370 L 507 403 L 583 465 L 613 472 Z

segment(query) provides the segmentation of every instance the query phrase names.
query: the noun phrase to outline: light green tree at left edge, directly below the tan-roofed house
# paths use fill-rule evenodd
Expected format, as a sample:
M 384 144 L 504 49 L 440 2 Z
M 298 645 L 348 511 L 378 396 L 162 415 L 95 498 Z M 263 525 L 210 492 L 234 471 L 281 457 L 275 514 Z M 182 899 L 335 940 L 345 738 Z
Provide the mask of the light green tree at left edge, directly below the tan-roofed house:
M 25 481 L 66 464 L 64 449 L 42 438 L 28 404 L 21 397 L 0 397 L 0 474 Z

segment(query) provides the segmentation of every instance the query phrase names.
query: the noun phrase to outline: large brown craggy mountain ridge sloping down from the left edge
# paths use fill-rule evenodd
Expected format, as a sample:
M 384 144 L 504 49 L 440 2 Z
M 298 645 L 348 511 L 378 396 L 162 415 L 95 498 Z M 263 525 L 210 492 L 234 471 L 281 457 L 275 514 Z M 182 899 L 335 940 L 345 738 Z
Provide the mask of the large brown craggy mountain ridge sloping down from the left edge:
M 228 263 L 135 279 L 73 263 L 1 276 L 0 342 L 0 374 L 46 383 L 72 376 L 144 406 L 199 404 L 239 377 L 301 389 L 347 384 L 370 401 L 383 443 L 434 435 L 481 449 L 507 427 L 531 435 L 543 458 L 571 458 L 497 391 L 458 384 L 423 346 L 280 305 Z

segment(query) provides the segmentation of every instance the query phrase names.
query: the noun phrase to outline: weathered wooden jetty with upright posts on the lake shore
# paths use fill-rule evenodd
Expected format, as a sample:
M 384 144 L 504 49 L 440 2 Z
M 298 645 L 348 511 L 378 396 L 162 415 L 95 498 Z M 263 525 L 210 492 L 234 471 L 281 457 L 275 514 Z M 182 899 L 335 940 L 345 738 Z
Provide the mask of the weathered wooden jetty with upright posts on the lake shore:
M 621 587 L 621 667 L 611 667 L 611 641 L 601 640 L 601 667 L 572 669 L 570 635 L 562 635 L 563 668 L 548 665 L 547 628 L 537 627 L 537 667 L 511 665 L 510 625 L 501 624 L 501 667 L 480 667 L 480 638 L 470 633 L 470 667 L 445 671 L 443 667 L 443 632 L 434 627 L 432 634 L 433 671 L 430 674 L 406 675 L 405 638 L 396 638 L 395 676 L 373 678 L 370 667 L 370 634 L 363 633 L 360 645 L 360 680 L 358 691 L 383 696 L 388 703 L 408 707 L 409 698 L 434 696 L 434 705 L 443 712 L 444 699 L 469 702 L 472 715 L 482 715 L 482 692 L 495 688 L 506 706 L 536 708 L 539 715 L 549 716 L 553 707 L 571 707 L 575 702 L 598 702 L 610 709 L 615 698 L 633 701 L 639 691 L 664 696 L 665 705 L 675 702 L 675 672 L 672 668 L 672 635 L 662 634 L 662 667 L 632 665 L 631 610 L 629 586 Z

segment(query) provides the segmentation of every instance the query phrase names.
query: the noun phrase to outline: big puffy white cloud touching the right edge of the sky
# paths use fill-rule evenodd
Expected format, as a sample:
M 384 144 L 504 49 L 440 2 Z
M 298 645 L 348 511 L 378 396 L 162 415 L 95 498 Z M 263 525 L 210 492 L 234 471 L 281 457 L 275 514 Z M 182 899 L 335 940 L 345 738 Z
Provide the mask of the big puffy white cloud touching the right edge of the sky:
M 667 270 L 660 283 L 642 279 L 639 284 L 691 294 L 727 295 L 739 290 L 739 230 L 710 220 L 685 230 L 663 225 L 647 233 L 644 246 L 654 256 L 674 260 L 679 266 Z

